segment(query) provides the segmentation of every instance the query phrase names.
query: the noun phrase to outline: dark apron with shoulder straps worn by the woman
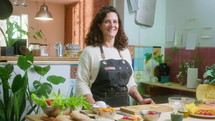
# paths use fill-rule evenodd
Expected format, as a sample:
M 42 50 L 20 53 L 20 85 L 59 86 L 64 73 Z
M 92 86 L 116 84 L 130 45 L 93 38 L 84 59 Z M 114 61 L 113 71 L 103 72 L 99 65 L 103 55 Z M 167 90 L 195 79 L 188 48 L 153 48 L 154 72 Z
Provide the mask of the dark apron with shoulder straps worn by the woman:
M 91 91 L 95 101 L 104 101 L 111 107 L 129 106 L 128 88 L 126 85 L 132 74 L 130 64 L 123 59 L 105 60 L 104 52 L 100 47 L 103 60 Z

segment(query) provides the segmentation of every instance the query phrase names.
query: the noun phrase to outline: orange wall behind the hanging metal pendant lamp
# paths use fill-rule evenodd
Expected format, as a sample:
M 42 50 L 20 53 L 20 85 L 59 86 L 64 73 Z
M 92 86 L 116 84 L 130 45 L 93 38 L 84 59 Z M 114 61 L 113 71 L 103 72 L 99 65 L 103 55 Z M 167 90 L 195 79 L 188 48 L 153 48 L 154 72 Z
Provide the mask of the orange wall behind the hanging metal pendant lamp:
M 13 3 L 13 0 L 10 0 Z M 22 1 L 19 1 L 20 3 Z M 28 43 L 45 43 L 48 44 L 49 56 L 55 55 L 54 45 L 57 42 L 64 43 L 64 5 L 47 3 L 49 11 L 52 13 L 54 18 L 53 21 L 39 21 L 34 19 L 37 11 L 39 10 L 42 2 L 30 2 L 27 1 L 28 6 L 13 6 L 13 14 L 28 14 L 29 15 L 29 25 L 35 27 L 36 29 L 41 29 L 45 35 L 44 40 L 35 40 L 29 38 Z

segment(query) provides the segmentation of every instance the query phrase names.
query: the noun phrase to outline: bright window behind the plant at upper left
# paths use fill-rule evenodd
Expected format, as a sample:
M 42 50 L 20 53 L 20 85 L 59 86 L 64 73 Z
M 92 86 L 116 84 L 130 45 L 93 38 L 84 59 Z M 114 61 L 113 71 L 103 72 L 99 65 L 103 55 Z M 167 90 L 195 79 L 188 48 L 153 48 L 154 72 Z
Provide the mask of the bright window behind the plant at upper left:
M 10 18 L 8 18 L 10 22 L 17 22 L 21 28 L 25 31 L 28 31 L 28 15 L 27 14 L 21 14 L 21 15 L 11 15 Z M 0 20 L 0 27 L 4 31 L 4 33 L 7 30 L 7 20 Z M 17 32 L 14 34 L 13 38 L 20 37 L 21 39 L 28 39 L 27 35 L 22 35 L 20 32 Z M 0 46 L 6 46 L 4 36 L 0 32 Z

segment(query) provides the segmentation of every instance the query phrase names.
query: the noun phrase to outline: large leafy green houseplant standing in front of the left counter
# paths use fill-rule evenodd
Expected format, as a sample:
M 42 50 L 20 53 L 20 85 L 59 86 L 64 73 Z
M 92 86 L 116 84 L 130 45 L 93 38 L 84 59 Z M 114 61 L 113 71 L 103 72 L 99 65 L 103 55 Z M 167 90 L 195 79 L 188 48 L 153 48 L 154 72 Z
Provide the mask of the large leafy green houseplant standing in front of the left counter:
M 0 67 L 0 85 L 2 86 L 2 94 L 3 98 L 0 98 L 0 121 L 24 121 L 25 115 L 31 114 L 38 105 L 34 104 L 31 100 L 31 94 L 41 94 L 41 90 L 45 90 L 45 94 L 51 93 L 47 90 L 52 90 L 52 84 L 60 84 L 65 81 L 63 77 L 50 75 L 51 78 L 48 79 L 48 83 L 36 83 L 37 86 L 35 89 L 31 89 L 29 87 L 28 73 L 30 69 L 37 70 L 36 72 L 44 72 L 44 68 L 46 67 L 33 67 L 34 56 L 32 54 L 28 54 L 26 56 L 19 56 L 17 61 L 17 66 L 23 71 L 24 74 L 17 73 L 14 70 L 14 66 L 12 64 L 7 64 L 5 66 Z M 37 69 L 36 69 L 37 68 Z M 14 72 L 15 77 L 12 79 L 12 83 L 9 83 L 9 79 L 12 77 L 12 73 Z M 45 75 L 46 73 L 42 73 Z M 56 77 L 56 78 L 55 78 Z M 60 78 L 59 81 L 57 81 Z M 49 85 L 49 86 L 45 86 Z M 33 91 L 32 91 L 33 90 Z M 41 94 L 42 95 L 42 94 Z M 29 102 L 30 105 L 27 105 Z

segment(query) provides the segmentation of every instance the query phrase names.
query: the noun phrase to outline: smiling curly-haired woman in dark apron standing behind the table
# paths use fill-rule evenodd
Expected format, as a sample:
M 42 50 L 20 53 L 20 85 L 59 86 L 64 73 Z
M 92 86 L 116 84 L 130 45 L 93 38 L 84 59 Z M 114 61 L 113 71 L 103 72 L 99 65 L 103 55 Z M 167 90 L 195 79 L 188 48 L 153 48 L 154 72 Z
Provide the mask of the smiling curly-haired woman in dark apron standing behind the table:
M 134 82 L 128 38 L 116 9 L 105 6 L 92 21 L 78 65 L 76 93 L 89 103 L 104 101 L 111 107 L 128 106 L 129 95 L 141 104 L 143 99 Z

